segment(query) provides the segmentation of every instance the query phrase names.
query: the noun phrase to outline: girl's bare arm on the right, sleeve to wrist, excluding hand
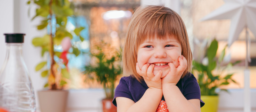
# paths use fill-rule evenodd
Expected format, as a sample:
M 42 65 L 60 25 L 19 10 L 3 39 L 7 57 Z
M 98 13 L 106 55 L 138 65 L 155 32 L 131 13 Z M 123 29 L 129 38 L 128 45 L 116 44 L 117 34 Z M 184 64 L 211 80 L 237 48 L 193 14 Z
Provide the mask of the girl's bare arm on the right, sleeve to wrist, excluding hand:
M 169 112 L 201 112 L 200 100 L 187 100 L 173 84 L 163 84 L 163 94 Z

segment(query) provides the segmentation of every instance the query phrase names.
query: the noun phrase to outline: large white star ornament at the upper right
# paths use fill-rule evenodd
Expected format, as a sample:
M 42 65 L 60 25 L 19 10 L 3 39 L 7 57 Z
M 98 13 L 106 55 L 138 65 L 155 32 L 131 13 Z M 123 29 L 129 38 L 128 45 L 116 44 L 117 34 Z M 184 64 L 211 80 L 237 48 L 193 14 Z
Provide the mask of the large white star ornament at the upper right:
M 225 4 L 202 20 L 231 19 L 228 46 L 248 27 L 256 37 L 256 0 L 224 0 Z

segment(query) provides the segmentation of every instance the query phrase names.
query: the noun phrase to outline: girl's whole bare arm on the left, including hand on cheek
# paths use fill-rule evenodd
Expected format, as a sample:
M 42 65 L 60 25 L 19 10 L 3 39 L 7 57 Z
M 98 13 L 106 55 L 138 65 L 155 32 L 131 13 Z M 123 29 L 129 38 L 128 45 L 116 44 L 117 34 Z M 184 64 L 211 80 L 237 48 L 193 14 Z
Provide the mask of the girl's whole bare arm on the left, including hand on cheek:
M 136 63 L 136 71 L 143 77 L 144 81 L 148 85 L 148 89 L 136 103 L 128 98 L 116 97 L 118 112 L 156 112 L 159 102 L 163 96 L 163 90 L 162 80 L 160 78 L 162 71 L 160 70 L 156 75 L 154 75 L 154 66 L 154 64 L 146 63 L 140 69 L 139 64 Z M 126 101 L 129 103 L 126 104 Z

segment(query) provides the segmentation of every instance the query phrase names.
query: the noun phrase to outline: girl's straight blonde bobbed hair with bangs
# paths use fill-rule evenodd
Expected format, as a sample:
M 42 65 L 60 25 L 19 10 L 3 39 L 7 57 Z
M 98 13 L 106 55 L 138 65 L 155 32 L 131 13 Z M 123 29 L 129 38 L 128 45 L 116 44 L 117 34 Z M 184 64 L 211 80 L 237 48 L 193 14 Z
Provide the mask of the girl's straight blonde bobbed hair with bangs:
M 148 38 L 165 39 L 175 36 L 180 41 L 183 55 L 188 62 L 181 78 L 191 69 L 192 53 L 185 24 L 178 13 L 163 5 L 138 7 L 132 15 L 124 41 L 122 62 L 124 75 L 132 75 L 138 81 L 143 78 L 136 72 L 138 46 Z

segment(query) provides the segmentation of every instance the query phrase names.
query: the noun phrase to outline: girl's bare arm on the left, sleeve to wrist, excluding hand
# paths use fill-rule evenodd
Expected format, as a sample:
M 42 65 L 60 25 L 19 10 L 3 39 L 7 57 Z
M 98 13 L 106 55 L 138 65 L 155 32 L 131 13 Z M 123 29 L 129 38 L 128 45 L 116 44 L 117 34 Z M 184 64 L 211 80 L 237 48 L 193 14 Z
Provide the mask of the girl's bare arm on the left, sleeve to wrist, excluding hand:
M 136 103 L 125 97 L 116 97 L 117 112 L 156 112 L 162 96 L 162 89 L 148 88 Z

